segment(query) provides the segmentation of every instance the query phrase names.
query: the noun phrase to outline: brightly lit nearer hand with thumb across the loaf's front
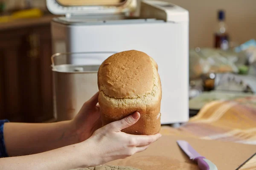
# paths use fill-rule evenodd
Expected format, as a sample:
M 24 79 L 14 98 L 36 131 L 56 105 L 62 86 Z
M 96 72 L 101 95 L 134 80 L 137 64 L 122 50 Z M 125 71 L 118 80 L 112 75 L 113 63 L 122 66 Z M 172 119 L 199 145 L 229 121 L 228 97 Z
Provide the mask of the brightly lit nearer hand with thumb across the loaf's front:
M 140 113 L 135 112 L 124 119 L 105 125 L 96 130 L 89 139 L 81 142 L 81 144 L 87 143 L 85 146 L 90 146 L 93 151 L 93 166 L 142 152 L 161 137 L 159 133 L 145 136 L 121 132 L 122 129 L 135 124 L 139 119 Z

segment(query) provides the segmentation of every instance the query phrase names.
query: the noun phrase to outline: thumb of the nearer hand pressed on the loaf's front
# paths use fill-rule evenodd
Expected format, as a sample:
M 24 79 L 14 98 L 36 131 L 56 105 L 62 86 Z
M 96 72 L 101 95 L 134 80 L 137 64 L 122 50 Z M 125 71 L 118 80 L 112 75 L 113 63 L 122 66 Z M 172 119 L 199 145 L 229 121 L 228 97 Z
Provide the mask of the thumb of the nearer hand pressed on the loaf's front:
M 118 120 L 116 122 L 110 123 L 111 128 L 115 132 L 119 132 L 127 127 L 130 127 L 131 125 L 134 125 L 138 120 L 140 119 L 140 113 L 135 112 L 124 119 Z

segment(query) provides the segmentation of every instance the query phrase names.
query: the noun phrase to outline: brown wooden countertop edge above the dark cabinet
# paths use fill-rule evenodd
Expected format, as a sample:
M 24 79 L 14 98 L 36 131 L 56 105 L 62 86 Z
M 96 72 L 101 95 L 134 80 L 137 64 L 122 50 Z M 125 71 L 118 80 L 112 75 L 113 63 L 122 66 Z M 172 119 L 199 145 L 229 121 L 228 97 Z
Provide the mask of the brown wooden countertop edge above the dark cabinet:
M 0 31 L 49 24 L 54 17 L 58 16 L 47 14 L 39 18 L 27 18 L 6 23 L 0 23 Z

